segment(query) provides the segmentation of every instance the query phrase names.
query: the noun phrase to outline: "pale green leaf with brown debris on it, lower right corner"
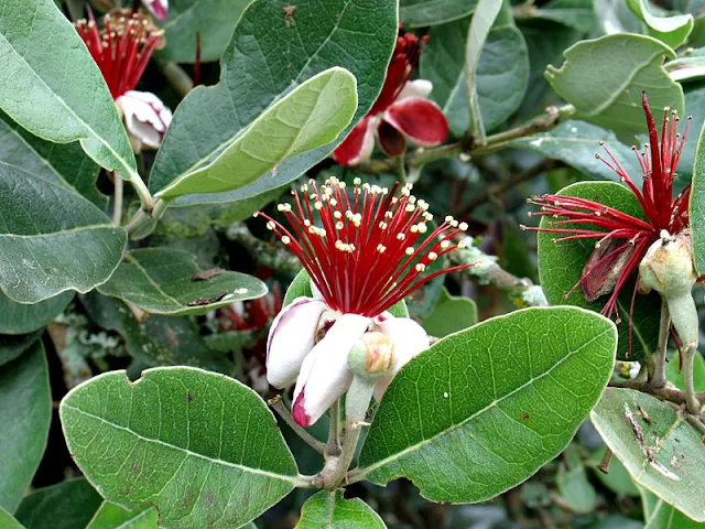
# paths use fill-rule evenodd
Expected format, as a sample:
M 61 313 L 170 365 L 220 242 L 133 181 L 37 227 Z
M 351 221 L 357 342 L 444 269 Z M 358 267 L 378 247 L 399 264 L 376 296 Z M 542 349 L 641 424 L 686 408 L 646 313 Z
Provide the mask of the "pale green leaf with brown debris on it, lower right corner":
M 590 419 L 638 484 L 690 518 L 705 521 L 705 445 L 676 410 L 647 393 L 608 388 Z

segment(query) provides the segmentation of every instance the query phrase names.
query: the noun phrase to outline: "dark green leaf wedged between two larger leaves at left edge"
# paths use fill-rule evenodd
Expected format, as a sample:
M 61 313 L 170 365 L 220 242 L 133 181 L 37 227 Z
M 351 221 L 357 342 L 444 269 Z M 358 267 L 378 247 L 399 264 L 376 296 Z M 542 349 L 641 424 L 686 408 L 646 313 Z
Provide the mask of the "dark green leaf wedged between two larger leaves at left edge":
M 100 168 L 78 143 L 52 143 L 32 136 L 0 110 L 0 162 L 66 184 L 101 209 L 108 198 L 98 191 Z

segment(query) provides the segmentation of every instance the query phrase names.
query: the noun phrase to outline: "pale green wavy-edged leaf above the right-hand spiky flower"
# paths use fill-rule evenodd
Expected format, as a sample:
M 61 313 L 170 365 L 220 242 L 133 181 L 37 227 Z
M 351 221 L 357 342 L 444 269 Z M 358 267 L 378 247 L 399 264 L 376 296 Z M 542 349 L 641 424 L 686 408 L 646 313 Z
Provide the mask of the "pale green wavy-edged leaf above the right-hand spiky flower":
M 563 66 L 549 66 L 546 78 L 575 107 L 578 119 L 611 129 L 631 142 L 634 134 L 647 132 L 643 90 L 649 93 L 651 108 L 671 107 L 683 114 L 683 89 L 662 67 L 663 60 L 675 58 L 675 53 L 655 39 L 607 35 L 578 42 L 564 55 Z

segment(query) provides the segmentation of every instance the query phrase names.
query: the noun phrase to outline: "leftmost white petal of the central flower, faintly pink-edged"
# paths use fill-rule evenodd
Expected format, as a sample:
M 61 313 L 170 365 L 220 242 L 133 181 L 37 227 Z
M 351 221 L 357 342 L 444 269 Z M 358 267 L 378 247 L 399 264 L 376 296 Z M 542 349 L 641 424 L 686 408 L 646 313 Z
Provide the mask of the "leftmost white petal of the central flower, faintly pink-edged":
M 275 388 L 292 385 L 313 349 L 316 326 L 326 304 L 296 298 L 276 315 L 267 338 L 267 379 Z

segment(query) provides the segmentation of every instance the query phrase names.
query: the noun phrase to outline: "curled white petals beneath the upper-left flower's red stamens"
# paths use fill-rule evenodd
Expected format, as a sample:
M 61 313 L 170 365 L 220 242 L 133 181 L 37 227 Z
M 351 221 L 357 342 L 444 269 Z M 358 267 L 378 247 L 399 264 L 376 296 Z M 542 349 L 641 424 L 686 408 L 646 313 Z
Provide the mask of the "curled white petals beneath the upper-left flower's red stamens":
M 159 149 L 166 128 L 172 121 L 172 111 L 162 100 L 149 91 L 126 91 L 115 101 L 124 117 L 124 126 L 135 151 L 143 145 Z

